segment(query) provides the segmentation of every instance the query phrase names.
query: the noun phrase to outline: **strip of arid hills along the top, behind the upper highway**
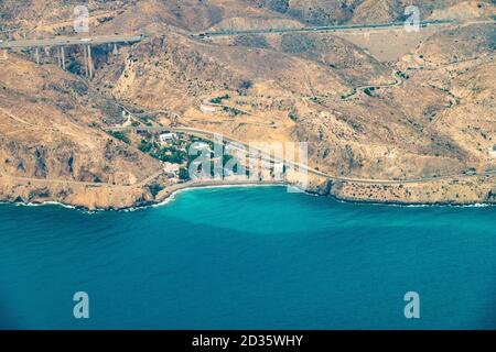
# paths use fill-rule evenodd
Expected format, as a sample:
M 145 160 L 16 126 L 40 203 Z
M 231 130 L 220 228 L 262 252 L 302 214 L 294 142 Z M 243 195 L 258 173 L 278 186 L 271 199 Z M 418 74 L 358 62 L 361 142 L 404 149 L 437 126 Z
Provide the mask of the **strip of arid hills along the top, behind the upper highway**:
M 166 23 L 190 32 L 215 26 L 252 29 L 402 21 L 405 9 L 411 4 L 419 8 L 421 19 L 495 14 L 490 0 L 91 0 L 86 3 L 4 0 L 0 13 L 2 22 L 11 25 L 54 30 L 60 29 L 53 28 L 54 23 L 71 26 L 74 8 L 80 4 L 89 9 L 95 24 L 112 21 L 114 28 L 138 30 Z

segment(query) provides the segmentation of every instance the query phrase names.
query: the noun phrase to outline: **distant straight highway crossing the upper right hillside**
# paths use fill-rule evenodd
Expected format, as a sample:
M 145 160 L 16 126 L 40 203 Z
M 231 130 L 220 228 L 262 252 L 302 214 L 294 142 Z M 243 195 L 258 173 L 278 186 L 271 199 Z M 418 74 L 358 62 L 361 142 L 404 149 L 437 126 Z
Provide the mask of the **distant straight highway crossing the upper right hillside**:
M 420 26 L 446 25 L 455 23 L 454 20 L 433 20 L 421 21 Z M 348 24 L 348 25 L 323 25 L 312 28 L 285 28 L 285 29 L 260 29 L 246 31 L 216 31 L 203 32 L 193 34 L 193 37 L 204 38 L 209 36 L 237 36 L 248 34 L 282 34 L 282 33 L 298 33 L 298 32 L 342 32 L 342 31 L 360 31 L 360 30 L 379 30 L 405 26 L 405 22 L 389 22 L 389 23 L 371 23 L 371 24 Z

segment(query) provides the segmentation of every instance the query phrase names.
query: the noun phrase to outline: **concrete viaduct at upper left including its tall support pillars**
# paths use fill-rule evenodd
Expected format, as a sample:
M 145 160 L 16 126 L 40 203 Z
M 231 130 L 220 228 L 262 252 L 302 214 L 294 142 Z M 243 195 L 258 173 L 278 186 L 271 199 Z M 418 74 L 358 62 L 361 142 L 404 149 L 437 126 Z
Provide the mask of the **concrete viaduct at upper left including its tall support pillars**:
M 100 35 L 100 36 L 66 36 L 41 40 L 19 40 L 19 41 L 1 41 L 0 50 L 13 48 L 34 48 L 34 56 L 36 64 L 40 64 L 40 48 L 57 47 L 58 48 L 58 66 L 63 69 L 65 66 L 65 47 L 72 45 L 82 45 L 84 47 L 85 72 L 86 76 L 93 77 L 93 58 L 91 45 L 114 44 L 114 50 L 117 52 L 117 44 L 119 43 L 137 43 L 143 40 L 143 36 L 138 35 Z

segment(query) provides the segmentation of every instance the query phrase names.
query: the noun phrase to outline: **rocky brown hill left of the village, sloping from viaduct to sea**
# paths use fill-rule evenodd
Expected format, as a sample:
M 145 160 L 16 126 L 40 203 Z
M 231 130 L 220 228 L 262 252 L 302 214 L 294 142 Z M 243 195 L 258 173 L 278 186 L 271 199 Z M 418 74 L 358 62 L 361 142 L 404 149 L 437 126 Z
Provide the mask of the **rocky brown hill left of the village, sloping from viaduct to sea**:
M 133 185 L 160 169 L 158 161 L 101 131 L 106 111 L 97 97 L 73 75 L 10 55 L 0 66 L 3 199 L 111 206 L 106 194 L 114 185 Z M 128 206 L 147 197 L 143 190 L 121 194 L 117 202 Z

